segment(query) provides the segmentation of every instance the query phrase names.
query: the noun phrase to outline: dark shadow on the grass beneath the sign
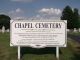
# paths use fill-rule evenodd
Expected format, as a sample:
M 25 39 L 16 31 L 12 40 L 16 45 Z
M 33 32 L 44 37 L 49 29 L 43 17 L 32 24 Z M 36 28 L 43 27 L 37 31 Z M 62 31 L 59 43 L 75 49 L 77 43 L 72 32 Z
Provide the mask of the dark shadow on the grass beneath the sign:
M 21 58 L 25 54 L 36 54 L 36 55 L 42 55 L 42 54 L 54 54 L 56 55 L 56 48 L 55 47 L 46 47 L 46 48 L 31 48 L 31 47 L 21 47 Z M 60 50 L 60 54 L 61 50 Z

